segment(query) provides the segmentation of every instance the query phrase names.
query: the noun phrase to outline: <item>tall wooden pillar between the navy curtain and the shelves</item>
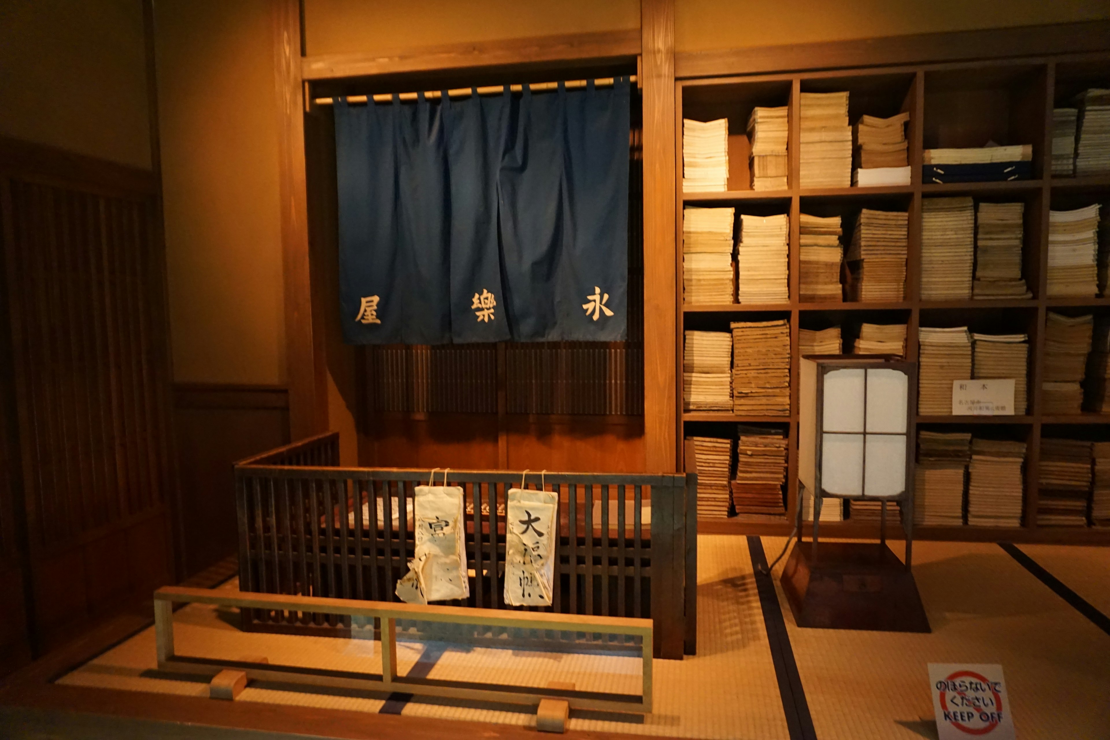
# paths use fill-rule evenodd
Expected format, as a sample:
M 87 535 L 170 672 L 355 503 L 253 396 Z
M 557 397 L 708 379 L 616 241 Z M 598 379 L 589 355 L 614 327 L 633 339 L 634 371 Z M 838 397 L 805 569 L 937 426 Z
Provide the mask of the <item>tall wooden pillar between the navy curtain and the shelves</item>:
M 675 3 L 640 2 L 644 90 L 644 452 L 646 469 L 678 465 L 675 271 Z

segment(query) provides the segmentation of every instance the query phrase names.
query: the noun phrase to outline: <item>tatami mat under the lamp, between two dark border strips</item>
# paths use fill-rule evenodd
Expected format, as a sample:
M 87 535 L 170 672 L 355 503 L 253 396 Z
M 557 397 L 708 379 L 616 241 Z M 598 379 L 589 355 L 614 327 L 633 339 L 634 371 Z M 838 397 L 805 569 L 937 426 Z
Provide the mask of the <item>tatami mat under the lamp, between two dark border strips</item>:
M 820 740 L 937 737 L 930 662 L 1000 663 L 1021 740 L 1110 737 L 1110 636 L 993 544 L 915 543 L 914 575 L 929 635 L 800 629 L 778 589 Z

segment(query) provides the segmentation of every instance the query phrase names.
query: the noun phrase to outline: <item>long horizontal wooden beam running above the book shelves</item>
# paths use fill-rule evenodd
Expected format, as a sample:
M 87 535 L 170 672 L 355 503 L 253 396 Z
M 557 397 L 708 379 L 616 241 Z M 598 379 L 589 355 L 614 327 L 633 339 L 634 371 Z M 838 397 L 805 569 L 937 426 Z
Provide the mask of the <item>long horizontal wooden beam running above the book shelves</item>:
M 688 51 L 675 54 L 675 77 L 689 79 L 1036 57 L 1104 51 L 1107 47 L 1110 47 L 1110 21 L 1052 23 L 750 49 Z

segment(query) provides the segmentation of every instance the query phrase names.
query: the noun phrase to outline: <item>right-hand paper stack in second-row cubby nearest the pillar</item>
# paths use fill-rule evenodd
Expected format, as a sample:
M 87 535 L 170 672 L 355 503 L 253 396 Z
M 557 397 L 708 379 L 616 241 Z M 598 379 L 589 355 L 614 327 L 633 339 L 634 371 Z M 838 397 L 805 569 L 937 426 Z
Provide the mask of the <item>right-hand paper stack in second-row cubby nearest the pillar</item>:
M 736 247 L 737 296 L 740 303 L 786 303 L 790 217 L 740 216 L 740 243 Z

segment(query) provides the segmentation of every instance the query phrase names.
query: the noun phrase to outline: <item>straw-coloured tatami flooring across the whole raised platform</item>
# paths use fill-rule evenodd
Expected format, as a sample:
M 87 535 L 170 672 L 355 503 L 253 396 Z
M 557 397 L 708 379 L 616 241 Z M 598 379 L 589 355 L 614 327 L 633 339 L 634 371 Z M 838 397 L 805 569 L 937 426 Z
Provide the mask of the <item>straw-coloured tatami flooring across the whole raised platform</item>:
M 768 559 L 781 539 L 764 538 Z M 894 544 L 900 551 L 900 545 Z M 1035 558 L 1040 556 L 1029 548 Z M 1053 572 L 1092 604 L 1110 585 L 1098 548 L 1060 548 Z M 1071 564 L 1084 564 L 1072 567 Z M 1103 564 L 1103 565 L 1100 565 Z M 1050 567 L 1048 562 L 1046 567 Z M 780 568 L 780 566 L 779 566 Z M 1062 569 L 1061 569 L 1062 568 Z M 820 740 L 936 737 L 926 663 L 1000 662 L 1015 703 L 1018 737 L 1110 738 L 1110 636 L 1101 632 L 997 545 L 918 543 L 915 575 L 931 635 L 799 629 L 781 589 L 781 610 Z M 1101 580 L 1100 580 L 1101 579 Z M 228 584 L 234 587 L 234 581 Z M 1082 589 L 1082 590 L 1081 590 Z M 655 711 L 643 723 L 578 713 L 571 729 L 720 740 L 788 740 L 763 611 L 745 537 L 698 537 L 698 655 L 655 662 Z M 178 651 L 224 659 L 266 656 L 273 663 L 375 672 L 376 642 L 243 633 L 236 615 L 191 605 L 174 615 Z M 635 691 L 639 661 L 622 653 L 579 655 L 446 642 L 398 643 L 398 668 L 441 679 L 574 681 L 579 689 Z M 61 682 L 205 696 L 189 677 L 155 670 L 148 629 L 63 677 Z M 386 697 L 299 692 L 252 683 L 243 701 L 365 712 Z M 414 698 L 385 711 L 532 726 L 523 708 Z

